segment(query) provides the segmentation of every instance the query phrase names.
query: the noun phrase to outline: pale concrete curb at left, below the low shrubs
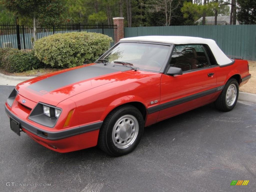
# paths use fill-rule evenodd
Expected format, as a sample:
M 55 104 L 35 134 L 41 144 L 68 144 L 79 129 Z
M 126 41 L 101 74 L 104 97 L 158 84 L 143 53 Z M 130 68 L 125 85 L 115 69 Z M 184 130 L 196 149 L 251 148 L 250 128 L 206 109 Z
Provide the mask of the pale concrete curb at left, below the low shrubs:
M 16 86 L 18 83 L 21 83 L 23 81 L 26 81 L 32 78 L 35 78 L 35 77 L 9 76 L 9 75 L 0 73 L 0 85 Z

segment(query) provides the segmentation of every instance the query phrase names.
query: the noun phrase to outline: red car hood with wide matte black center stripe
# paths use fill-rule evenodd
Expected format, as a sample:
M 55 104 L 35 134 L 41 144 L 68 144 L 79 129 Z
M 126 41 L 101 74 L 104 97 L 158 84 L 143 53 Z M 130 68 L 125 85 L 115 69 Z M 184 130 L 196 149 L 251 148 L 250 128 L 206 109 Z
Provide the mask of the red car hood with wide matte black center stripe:
M 31 101 L 56 106 L 73 95 L 137 73 L 140 72 L 131 71 L 127 66 L 91 63 L 24 81 L 16 89 Z

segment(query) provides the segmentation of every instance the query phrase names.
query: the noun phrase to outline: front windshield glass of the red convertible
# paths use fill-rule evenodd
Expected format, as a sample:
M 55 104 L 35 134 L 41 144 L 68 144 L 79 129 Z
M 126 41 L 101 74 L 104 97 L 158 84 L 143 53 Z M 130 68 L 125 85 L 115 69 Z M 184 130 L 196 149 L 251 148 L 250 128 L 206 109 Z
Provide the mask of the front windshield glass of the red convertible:
M 141 70 L 160 71 L 167 57 L 170 46 L 147 43 L 120 43 L 101 58 L 106 63 L 122 65 L 129 63 Z

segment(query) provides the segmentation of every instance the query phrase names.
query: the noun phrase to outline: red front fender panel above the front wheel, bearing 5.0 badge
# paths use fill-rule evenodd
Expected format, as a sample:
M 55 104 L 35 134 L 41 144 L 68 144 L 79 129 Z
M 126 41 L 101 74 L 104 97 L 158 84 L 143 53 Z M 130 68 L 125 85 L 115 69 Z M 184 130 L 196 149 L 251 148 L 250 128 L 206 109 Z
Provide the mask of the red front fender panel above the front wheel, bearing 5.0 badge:
M 144 72 L 114 81 L 72 96 L 78 109 L 79 124 L 103 121 L 114 108 L 129 102 L 140 102 L 146 108 L 160 100 L 161 73 Z

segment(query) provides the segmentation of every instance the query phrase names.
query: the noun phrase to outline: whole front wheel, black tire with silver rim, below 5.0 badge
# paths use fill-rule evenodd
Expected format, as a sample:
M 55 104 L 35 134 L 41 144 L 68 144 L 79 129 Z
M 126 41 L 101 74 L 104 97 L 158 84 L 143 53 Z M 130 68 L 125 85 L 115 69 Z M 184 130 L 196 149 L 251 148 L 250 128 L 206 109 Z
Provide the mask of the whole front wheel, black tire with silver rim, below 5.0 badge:
M 104 120 L 98 145 L 112 156 L 132 152 L 141 140 L 144 120 L 141 112 L 132 105 L 114 109 Z

